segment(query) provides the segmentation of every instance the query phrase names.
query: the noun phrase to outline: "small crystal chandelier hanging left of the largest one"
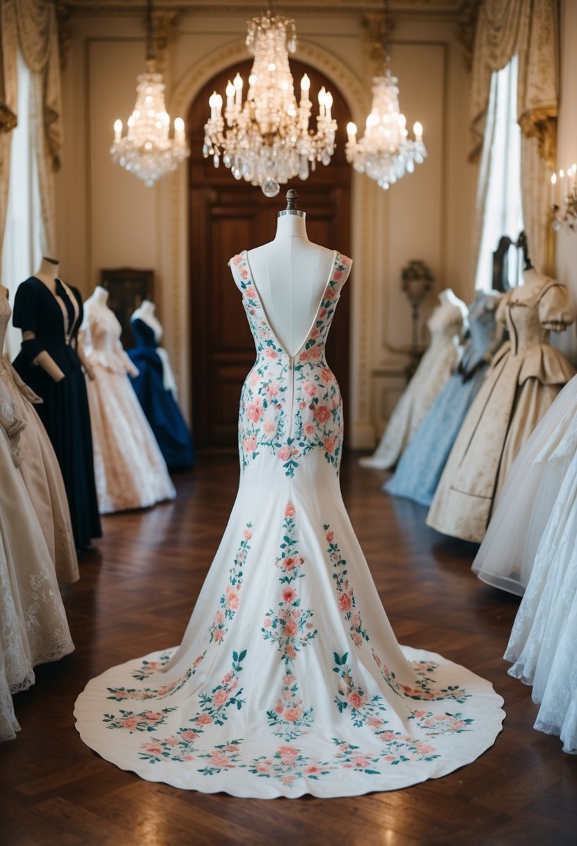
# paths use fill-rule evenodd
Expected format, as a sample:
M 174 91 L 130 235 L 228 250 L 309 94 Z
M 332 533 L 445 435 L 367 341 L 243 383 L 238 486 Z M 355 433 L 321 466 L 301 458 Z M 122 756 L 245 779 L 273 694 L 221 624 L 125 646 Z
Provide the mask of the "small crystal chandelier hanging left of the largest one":
M 190 156 L 184 137 L 184 120 L 175 118 L 174 138 L 168 137 L 170 118 L 164 102 L 162 74 L 156 72 L 152 35 L 152 0 L 146 9 L 146 74 L 136 78 L 136 102 L 122 135 L 122 121 L 114 121 L 113 162 L 134 173 L 149 187 Z

